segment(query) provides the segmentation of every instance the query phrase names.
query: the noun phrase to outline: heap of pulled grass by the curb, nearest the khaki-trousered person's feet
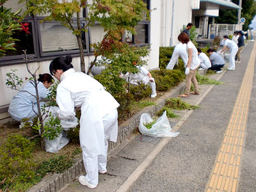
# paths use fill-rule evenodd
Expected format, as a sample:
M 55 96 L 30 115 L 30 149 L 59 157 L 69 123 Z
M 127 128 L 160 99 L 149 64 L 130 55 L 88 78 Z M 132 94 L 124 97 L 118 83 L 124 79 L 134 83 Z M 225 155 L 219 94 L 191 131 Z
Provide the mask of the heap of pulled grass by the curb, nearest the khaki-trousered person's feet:
M 189 104 L 188 102 L 185 102 L 184 100 L 180 98 L 170 98 L 166 99 L 165 106 L 170 109 L 177 109 L 177 110 L 183 110 L 183 109 L 199 109 L 200 106 L 193 106 Z

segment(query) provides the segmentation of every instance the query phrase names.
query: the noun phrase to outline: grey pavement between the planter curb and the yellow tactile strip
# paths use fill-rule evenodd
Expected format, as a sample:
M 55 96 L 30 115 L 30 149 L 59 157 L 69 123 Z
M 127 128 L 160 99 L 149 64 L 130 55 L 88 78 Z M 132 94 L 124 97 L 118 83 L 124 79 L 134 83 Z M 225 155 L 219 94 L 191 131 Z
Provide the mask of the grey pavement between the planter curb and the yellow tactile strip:
M 222 74 L 211 75 L 212 79 L 223 81 L 223 85 L 200 85 L 200 95 L 183 98 L 190 104 L 199 104 L 201 108 L 175 111 L 180 115 L 179 118 L 169 118 L 172 132 L 180 132 L 177 138 L 150 138 L 137 133 L 127 137 L 109 152 L 108 172 L 99 174 L 99 184 L 95 189 L 79 184 L 75 173 L 74 177 L 67 176 L 66 180 L 69 179 L 70 184 L 65 188 L 62 181 L 61 184 L 58 180 L 59 185 L 56 186 L 56 182 L 52 182 L 50 177 L 41 184 L 45 185 L 44 190 L 34 188 L 30 191 L 59 191 L 61 188 L 62 192 L 204 191 L 252 46 L 253 44 L 248 44 L 244 49 L 243 65 L 236 63 L 235 71 L 223 70 Z M 228 63 L 225 65 L 227 67 Z M 181 93 L 184 83 L 179 86 L 177 90 Z M 82 165 L 79 159 L 79 174 L 84 174 Z

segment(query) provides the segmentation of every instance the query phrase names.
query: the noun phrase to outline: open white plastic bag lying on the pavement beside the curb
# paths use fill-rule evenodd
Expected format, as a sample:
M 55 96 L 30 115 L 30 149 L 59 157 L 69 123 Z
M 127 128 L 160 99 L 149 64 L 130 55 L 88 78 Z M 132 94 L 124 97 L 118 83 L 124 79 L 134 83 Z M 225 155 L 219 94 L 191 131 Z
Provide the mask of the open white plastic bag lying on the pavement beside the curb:
M 147 129 L 143 124 L 149 124 L 154 121 L 148 113 L 143 113 L 140 117 L 139 130 L 141 134 L 146 136 L 152 136 L 154 138 L 163 137 L 176 137 L 180 132 L 171 132 L 172 128 L 166 116 L 166 111 L 157 120 L 155 124 L 152 125 L 151 129 Z

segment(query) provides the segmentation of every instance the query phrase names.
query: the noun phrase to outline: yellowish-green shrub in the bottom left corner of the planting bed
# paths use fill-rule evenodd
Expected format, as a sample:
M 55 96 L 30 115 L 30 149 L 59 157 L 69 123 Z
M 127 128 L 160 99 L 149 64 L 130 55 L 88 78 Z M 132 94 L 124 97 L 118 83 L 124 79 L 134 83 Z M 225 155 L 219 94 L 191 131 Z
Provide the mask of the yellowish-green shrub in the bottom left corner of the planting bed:
M 11 134 L 8 140 L 0 147 L 0 185 L 5 189 L 16 182 L 29 182 L 35 173 L 36 164 L 32 161 L 31 152 L 35 143 L 23 138 L 19 134 Z

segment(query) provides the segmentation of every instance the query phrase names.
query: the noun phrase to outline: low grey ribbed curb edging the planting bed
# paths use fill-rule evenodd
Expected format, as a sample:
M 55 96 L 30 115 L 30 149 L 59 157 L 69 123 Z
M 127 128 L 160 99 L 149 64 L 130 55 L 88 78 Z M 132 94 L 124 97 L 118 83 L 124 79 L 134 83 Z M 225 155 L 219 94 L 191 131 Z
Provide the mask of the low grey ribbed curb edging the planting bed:
M 138 128 L 140 124 L 140 116 L 142 113 L 149 113 L 151 116 L 154 116 L 157 111 L 163 108 L 165 100 L 170 97 L 178 97 L 180 93 L 184 92 L 186 88 L 186 83 L 183 81 L 178 86 L 175 86 L 170 92 L 164 93 L 159 99 L 155 102 L 157 106 L 147 106 L 141 111 L 133 115 L 131 118 L 126 120 L 123 124 L 118 126 L 118 137 L 116 143 L 109 141 L 108 150 L 111 152 L 116 148 L 122 141 L 132 134 L 132 131 Z M 85 174 L 83 158 L 78 157 L 75 159 L 74 165 L 66 170 L 63 173 L 53 173 L 46 176 L 38 184 L 28 189 L 27 192 L 58 192 L 61 189 L 65 188 L 73 180 L 77 179 L 79 175 Z

